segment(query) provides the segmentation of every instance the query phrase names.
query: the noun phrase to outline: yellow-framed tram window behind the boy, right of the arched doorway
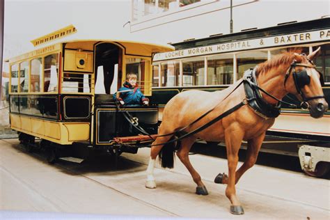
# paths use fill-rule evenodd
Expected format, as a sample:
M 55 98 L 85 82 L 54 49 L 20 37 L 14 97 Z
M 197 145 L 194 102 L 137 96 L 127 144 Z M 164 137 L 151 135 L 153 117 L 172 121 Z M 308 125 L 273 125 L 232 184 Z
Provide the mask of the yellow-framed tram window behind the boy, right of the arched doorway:
M 142 93 L 145 93 L 146 88 L 150 88 L 151 86 L 151 79 L 146 79 L 148 72 L 150 74 L 150 70 L 148 70 L 149 66 L 150 61 L 147 61 L 143 58 L 126 58 L 126 74 L 131 72 L 136 74 Z M 126 76 L 123 77 L 126 79 Z

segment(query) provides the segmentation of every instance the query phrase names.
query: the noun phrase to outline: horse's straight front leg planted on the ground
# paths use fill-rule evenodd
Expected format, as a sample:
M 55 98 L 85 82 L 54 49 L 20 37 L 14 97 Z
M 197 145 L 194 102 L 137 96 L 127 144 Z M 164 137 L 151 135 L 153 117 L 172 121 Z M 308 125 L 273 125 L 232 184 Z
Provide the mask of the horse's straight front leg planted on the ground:
M 244 214 L 243 207 L 236 196 L 235 173 L 238 163 L 238 151 L 241 146 L 244 132 L 242 130 L 227 129 L 225 131 L 227 158 L 228 158 L 228 184 L 226 196 L 230 200 L 230 212 L 232 214 Z

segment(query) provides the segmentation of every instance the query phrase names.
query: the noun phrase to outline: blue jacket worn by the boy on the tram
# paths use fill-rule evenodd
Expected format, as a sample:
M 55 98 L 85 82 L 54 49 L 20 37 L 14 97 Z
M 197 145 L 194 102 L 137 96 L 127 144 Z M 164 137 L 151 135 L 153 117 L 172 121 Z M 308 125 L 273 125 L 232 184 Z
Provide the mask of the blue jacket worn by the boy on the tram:
M 122 91 L 124 92 L 120 93 L 118 100 L 123 100 L 125 102 L 124 105 L 140 105 L 143 101 L 148 100 L 148 98 L 143 95 L 137 84 L 135 85 L 135 87 L 133 87 L 128 82 L 125 82 L 125 84 L 123 84 L 123 87 L 119 88 L 118 90 L 118 92 Z M 113 94 L 113 100 L 117 101 L 116 94 L 117 93 Z

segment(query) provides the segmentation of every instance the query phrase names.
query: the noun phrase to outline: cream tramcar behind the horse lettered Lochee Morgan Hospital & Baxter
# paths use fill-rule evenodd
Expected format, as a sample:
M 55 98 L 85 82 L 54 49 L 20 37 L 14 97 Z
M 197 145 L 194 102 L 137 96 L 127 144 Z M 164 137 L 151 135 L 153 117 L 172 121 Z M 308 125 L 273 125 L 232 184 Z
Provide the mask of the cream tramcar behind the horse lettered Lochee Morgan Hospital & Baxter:
M 159 104 L 160 120 L 166 102 L 174 95 L 191 89 L 222 90 L 240 79 L 245 70 L 292 49 L 309 54 L 321 47 L 322 54 L 317 57 L 315 65 L 324 74 L 324 95 L 327 102 L 330 101 L 329 17 L 188 39 L 172 45 L 174 52 L 156 54 L 152 63 L 151 100 Z M 288 95 L 284 101 L 299 104 L 293 95 Z M 278 137 L 286 137 L 299 146 L 303 145 L 299 152 L 296 146 L 292 155 L 299 155 L 301 167 L 306 173 L 323 175 L 329 170 L 330 111 L 316 120 L 308 116 L 307 110 L 283 105 L 281 115 L 267 134 L 272 135 L 272 140 L 275 136 L 277 142 Z M 283 145 L 283 142 L 278 142 L 278 145 Z M 264 144 L 261 150 L 266 148 Z M 272 148 L 272 152 L 290 153 L 281 146 Z

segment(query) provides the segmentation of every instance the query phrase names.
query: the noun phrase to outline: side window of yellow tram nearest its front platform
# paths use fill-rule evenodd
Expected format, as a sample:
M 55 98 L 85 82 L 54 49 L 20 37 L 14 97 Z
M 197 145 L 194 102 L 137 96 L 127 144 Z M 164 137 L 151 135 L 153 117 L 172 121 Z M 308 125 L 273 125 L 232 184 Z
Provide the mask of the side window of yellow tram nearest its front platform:
M 57 91 L 58 65 L 58 54 L 51 54 L 45 57 L 44 92 Z

